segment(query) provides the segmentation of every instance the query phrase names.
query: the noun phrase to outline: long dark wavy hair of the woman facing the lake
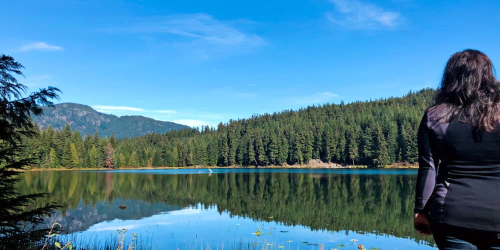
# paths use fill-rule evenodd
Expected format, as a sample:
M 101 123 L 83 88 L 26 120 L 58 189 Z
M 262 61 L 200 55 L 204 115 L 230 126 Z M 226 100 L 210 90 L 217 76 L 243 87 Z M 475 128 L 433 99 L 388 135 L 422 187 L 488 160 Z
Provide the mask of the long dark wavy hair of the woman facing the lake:
M 500 119 L 500 83 L 491 60 L 481 51 L 465 49 L 449 58 L 441 84 L 428 111 L 436 121 L 450 122 L 457 115 L 475 128 L 494 131 Z

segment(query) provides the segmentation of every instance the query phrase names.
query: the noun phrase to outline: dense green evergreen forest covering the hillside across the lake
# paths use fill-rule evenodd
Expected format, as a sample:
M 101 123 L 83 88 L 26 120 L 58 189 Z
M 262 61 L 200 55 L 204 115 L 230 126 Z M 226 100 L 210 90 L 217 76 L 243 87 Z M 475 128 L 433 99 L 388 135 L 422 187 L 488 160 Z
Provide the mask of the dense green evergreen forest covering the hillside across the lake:
M 116 139 L 84 136 L 69 125 L 39 130 L 23 140 L 33 166 L 265 166 L 339 164 L 386 166 L 417 160 L 416 131 L 433 89 L 403 97 L 308 106 L 215 127 Z

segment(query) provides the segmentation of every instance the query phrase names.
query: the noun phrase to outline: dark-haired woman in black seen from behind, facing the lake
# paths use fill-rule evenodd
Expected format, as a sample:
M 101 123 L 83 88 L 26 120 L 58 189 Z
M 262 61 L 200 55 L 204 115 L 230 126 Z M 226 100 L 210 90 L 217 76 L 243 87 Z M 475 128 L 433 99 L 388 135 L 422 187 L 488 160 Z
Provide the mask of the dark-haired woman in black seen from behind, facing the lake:
M 453 54 L 418 128 L 413 225 L 439 249 L 500 249 L 499 120 L 489 58 Z

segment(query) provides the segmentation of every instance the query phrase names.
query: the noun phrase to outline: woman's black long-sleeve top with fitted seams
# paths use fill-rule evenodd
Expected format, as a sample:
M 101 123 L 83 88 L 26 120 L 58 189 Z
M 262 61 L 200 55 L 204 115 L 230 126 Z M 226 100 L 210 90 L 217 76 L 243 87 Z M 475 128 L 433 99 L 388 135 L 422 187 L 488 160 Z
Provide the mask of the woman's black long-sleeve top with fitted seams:
M 415 213 L 433 223 L 500 232 L 500 125 L 437 122 L 428 111 L 418 128 Z

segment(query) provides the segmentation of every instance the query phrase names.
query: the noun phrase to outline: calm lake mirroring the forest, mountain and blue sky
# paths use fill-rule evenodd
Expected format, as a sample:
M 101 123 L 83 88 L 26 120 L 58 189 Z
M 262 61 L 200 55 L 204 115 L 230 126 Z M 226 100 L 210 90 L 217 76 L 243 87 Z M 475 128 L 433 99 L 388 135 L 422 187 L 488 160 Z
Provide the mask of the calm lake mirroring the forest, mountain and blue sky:
M 219 168 L 33 171 L 17 186 L 62 205 L 46 222 L 76 246 L 126 228 L 138 249 L 433 249 L 412 226 L 415 182 L 416 169 Z

